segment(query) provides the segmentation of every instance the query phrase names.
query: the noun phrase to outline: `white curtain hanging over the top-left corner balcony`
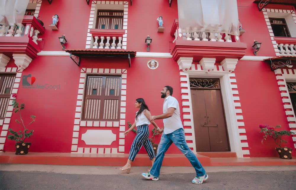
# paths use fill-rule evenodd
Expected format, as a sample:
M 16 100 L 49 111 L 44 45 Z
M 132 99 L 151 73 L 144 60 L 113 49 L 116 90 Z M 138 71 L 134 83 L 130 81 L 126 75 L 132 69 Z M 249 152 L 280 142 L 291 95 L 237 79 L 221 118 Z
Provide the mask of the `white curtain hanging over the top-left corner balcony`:
M 22 23 L 29 0 L 0 0 L 0 24 Z

